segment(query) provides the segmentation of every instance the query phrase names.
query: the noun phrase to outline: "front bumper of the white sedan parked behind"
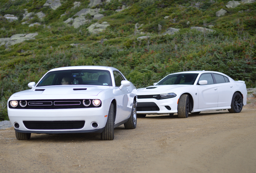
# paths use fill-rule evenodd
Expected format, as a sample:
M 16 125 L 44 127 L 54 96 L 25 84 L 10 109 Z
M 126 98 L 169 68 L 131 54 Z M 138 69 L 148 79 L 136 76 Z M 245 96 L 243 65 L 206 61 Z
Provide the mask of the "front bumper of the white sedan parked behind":
M 177 113 L 178 97 L 169 99 L 138 99 L 137 114 Z

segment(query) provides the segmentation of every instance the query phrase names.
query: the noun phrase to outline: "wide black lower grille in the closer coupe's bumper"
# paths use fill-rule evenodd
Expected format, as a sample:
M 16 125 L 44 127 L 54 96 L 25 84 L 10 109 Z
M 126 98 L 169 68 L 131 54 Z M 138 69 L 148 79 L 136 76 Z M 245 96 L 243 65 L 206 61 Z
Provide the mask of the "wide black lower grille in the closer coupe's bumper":
M 31 130 L 82 129 L 85 125 L 85 121 L 23 121 L 23 123 Z

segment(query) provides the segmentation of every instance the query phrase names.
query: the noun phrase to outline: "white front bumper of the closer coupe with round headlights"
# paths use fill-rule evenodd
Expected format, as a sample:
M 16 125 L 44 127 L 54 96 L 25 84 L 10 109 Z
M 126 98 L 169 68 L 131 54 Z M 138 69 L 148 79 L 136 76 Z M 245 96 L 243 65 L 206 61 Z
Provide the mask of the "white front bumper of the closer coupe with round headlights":
M 82 108 L 82 109 L 9 109 L 8 116 L 15 131 L 21 133 L 87 133 L 103 131 L 108 115 L 108 111 L 104 111 L 103 107 L 99 108 Z M 85 121 L 80 129 L 31 129 L 26 128 L 23 121 Z M 15 127 L 15 123 L 19 124 L 19 128 Z M 98 126 L 93 127 L 93 123 Z

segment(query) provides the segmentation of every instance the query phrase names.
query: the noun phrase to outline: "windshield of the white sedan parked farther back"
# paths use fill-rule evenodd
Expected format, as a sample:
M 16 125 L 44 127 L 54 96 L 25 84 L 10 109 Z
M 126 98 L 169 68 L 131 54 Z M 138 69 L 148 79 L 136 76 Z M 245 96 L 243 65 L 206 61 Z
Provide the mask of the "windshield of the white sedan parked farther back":
M 171 85 L 171 84 L 188 84 L 192 85 L 196 81 L 198 73 L 182 73 L 171 74 L 160 80 L 157 85 Z

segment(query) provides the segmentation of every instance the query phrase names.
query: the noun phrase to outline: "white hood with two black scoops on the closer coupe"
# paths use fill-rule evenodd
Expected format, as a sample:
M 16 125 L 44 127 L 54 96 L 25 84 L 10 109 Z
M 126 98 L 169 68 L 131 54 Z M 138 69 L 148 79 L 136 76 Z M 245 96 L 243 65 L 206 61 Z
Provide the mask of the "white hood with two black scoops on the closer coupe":
M 14 97 L 25 95 L 98 95 L 101 91 L 109 89 L 109 86 L 92 85 L 58 85 L 46 87 L 34 87 L 30 90 L 15 93 Z

